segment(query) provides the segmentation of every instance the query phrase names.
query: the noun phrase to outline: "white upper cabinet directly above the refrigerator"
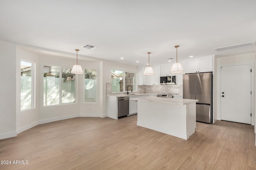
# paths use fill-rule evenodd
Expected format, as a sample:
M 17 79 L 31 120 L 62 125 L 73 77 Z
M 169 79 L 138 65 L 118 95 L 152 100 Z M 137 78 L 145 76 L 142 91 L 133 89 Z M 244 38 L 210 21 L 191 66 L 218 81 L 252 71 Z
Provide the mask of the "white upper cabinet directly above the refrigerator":
M 185 73 L 211 72 L 213 56 L 186 60 Z

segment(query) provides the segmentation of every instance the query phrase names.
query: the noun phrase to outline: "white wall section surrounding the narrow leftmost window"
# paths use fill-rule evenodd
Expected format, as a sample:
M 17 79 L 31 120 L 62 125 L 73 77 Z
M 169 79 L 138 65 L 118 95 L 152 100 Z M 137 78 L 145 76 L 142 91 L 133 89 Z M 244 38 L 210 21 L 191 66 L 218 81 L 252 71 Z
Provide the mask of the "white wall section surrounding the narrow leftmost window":
M 38 125 L 39 120 L 39 56 L 37 54 L 28 52 L 20 47 L 17 47 L 17 57 L 16 57 L 16 129 L 17 134 L 30 129 Z M 34 83 L 33 83 L 33 98 L 34 98 L 34 108 L 24 111 L 20 111 L 20 61 L 28 61 L 34 63 Z

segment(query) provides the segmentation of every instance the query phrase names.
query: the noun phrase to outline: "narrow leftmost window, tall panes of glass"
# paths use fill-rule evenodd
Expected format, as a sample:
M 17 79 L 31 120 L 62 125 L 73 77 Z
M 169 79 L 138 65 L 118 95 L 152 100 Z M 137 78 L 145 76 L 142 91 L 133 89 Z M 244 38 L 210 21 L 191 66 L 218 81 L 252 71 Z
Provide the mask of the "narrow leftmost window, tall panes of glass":
M 33 64 L 20 62 L 20 109 L 33 108 Z

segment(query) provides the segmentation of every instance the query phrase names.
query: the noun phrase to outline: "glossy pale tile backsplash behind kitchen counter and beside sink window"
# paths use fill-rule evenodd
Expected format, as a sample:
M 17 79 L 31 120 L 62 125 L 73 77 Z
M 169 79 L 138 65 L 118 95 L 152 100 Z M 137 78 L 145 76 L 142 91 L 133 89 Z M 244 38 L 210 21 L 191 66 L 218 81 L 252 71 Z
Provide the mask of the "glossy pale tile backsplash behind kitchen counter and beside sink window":
M 179 94 L 182 95 L 182 85 L 139 85 L 138 93 L 148 94 Z M 112 83 L 106 83 L 106 95 L 112 94 Z

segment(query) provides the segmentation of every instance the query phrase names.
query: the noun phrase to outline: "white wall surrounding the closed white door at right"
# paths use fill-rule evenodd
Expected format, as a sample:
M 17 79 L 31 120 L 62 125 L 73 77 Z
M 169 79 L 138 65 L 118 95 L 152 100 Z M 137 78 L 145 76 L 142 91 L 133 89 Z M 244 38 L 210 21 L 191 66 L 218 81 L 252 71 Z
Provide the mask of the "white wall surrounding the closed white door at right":
M 242 55 L 234 55 L 228 57 L 219 57 L 217 59 L 217 70 L 215 70 L 215 75 L 217 76 L 217 119 L 221 119 L 221 72 L 220 68 L 222 66 L 232 66 L 232 65 L 241 65 L 241 64 L 251 64 L 252 66 L 252 125 L 254 125 L 254 61 L 255 61 L 255 53 L 248 53 Z M 216 117 L 215 117 L 216 118 Z

